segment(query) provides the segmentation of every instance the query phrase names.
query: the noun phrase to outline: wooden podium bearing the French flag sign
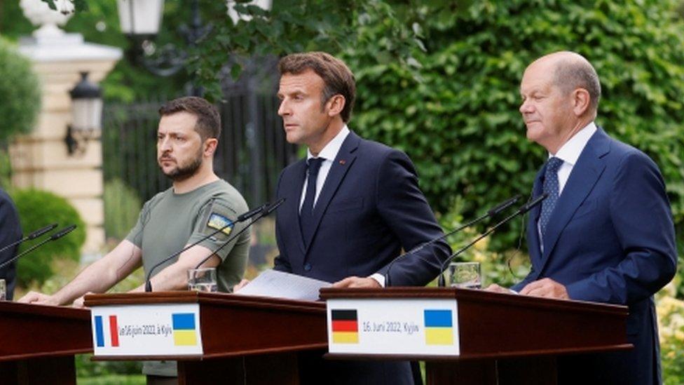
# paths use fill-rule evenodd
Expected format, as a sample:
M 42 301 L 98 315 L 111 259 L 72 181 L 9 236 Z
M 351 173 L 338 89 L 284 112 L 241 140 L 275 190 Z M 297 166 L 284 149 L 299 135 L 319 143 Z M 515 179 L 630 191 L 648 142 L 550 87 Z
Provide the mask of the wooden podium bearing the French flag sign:
M 297 352 L 327 347 L 325 304 L 207 292 L 87 295 L 86 306 L 199 304 L 200 356 L 95 356 L 177 360 L 179 384 L 299 384 Z

